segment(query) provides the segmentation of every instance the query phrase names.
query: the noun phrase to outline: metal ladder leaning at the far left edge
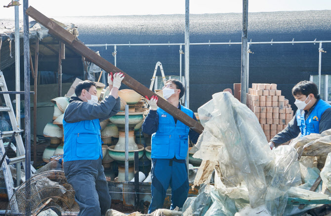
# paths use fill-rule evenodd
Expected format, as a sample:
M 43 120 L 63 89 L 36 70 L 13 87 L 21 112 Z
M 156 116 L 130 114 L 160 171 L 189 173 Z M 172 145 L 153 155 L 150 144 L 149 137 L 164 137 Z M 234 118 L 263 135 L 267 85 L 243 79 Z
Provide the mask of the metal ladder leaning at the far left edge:
M 7 85 L 6 85 L 6 82 L 4 80 L 4 76 L 3 76 L 2 71 L 0 71 L 0 88 L 1 88 L 2 92 L 8 92 Z M 13 178 L 12 178 L 12 175 L 11 175 L 9 165 L 13 164 L 13 163 L 20 163 L 20 162 L 25 161 L 25 148 L 24 148 L 23 140 L 22 140 L 22 136 L 21 136 L 21 133 L 23 132 L 23 130 L 18 128 L 17 121 L 16 121 L 16 118 L 15 118 L 14 109 L 13 109 L 13 106 L 11 104 L 9 94 L 3 94 L 3 98 L 4 98 L 4 101 L 6 103 L 6 107 L 0 107 L 0 111 L 7 111 L 8 112 L 13 131 L 0 131 L 0 157 L 2 158 L 3 154 L 5 153 L 5 149 L 4 149 L 2 139 L 6 138 L 6 137 L 11 137 L 14 133 L 15 133 L 15 140 L 16 140 L 16 147 L 17 148 L 13 144 L 8 146 L 7 148 L 11 148 L 15 153 L 18 149 L 18 152 L 19 152 L 19 156 L 15 157 L 15 158 L 10 158 L 9 159 L 7 156 L 5 156 L 5 160 L 3 161 L 2 165 L 1 165 L 4 180 L 5 180 L 5 183 L 6 183 L 8 199 L 10 200 L 10 198 L 14 194 L 15 188 L 14 188 L 14 182 L 13 182 Z M 19 103 L 19 102 L 17 102 L 17 103 Z M 24 170 L 26 170 L 25 169 L 25 163 L 23 163 L 23 167 L 24 167 Z M 36 169 L 32 165 L 31 165 L 31 172 L 32 173 L 36 172 Z M 19 186 L 19 185 L 17 185 L 17 186 Z

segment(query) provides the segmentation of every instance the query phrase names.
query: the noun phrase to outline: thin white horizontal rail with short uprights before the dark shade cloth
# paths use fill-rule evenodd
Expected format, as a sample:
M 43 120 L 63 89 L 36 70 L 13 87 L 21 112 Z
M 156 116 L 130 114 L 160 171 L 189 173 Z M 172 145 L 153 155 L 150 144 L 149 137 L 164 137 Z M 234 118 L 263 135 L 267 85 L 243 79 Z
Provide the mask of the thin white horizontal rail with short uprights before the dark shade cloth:
M 250 42 L 247 42 L 248 46 L 247 46 L 247 91 L 248 91 L 248 80 L 249 80 L 249 54 L 253 54 L 249 47 L 252 44 L 319 44 L 319 48 L 318 48 L 318 52 L 319 52 L 319 62 L 318 62 L 318 74 L 319 74 L 319 85 L 318 85 L 318 90 L 320 92 L 321 90 L 321 65 L 322 65 L 322 53 L 326 53 L 323 48 L 322 48 L 322 44 L 323 43 L 331 43 L 331 41 L 317 41 L 317 39 L 315 39 L 314 41 L 294 41 L 294 38 L 292 41 L 273 41 L 273 39 L 271 41 L 264 41 L 264 42 L 252 42 L 250 39 Z M 231 40 L 229 42 L 215 42 L 215 43 L 211 43 L 210 40 L 207 43 L 189 43 L 189 46 L 198 46 L 198 45 L 242 45 L 241 42 L 231 42 Z M 87 47 L 114 47 L 114 62 L 115 62 L 115 66 L 116 66 L 116 57 L 118 54 L 117 48 L 118 47 L 136 47 L 136 46 L 179 46 L 179 74 L 181 77 L 182 74 L 182 47 L 185 46 L 185 43 L 165 43 L 165 44 L 131 44 L 130 42 L 128 44 L 87 44 Z M 189 74 L 185 74 L 186 76 L 188 76 Z M 185 76 L 185 79 L 186 79 Z M 188 77 L 187 77 L 188 78 Z M 186 101 L 187 97 L 185 97 L 185 101 Z M 185 103 L 186 104 L 186 103 Z

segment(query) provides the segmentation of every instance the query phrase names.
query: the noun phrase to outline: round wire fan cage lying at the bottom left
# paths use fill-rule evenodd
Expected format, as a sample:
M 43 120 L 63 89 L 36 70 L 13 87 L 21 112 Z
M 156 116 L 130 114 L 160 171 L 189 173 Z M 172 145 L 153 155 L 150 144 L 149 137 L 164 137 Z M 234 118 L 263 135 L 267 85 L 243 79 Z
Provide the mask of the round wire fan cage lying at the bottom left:
M 42 208 L 49 198 L 52 200 Z M 41 172 L 25 181 L 10 199 L 5 215 L 38 215 L 41 208 L 70 216 L 80 211 L 75 191 L 63 171 Z

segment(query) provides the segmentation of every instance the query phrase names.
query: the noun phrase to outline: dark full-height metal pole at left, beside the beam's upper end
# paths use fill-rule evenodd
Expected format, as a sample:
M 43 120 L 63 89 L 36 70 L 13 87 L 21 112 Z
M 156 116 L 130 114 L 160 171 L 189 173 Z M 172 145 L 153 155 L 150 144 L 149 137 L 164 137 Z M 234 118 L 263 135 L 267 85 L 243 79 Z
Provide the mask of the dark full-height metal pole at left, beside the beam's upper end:
M 31 178 L 31 128 L 30 128 L 30 46 L 29 46 L 29 16 L 26 10 L 29 0 L 23 0 L 23 25 L 24 25 L 24 107 L 25 107 L 25 179 L 26 200 L 30 203 L 30 178 Z M 26 208 L 27 215 L 31 213 L 31 206 Z

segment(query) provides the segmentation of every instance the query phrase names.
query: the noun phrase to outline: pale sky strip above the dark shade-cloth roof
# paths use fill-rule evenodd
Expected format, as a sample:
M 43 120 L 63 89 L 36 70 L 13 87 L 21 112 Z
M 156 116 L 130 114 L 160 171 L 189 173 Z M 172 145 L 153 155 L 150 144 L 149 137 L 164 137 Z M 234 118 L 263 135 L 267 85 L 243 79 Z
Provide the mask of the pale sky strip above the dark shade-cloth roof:
M 14 18 L 11 0 L 0 0 L 0 19 Z M 331 0 L 249 0 L 249 12 L 331 10 Z M 23 0 L 20 0 L 23 4 Z M 185 0 L 29 0 L 48 17 L 184 14 Z M 23 6 L 20 6 L 22 18 Z M 190 13 L 241 13 L 242 0 L 190 0 Z

